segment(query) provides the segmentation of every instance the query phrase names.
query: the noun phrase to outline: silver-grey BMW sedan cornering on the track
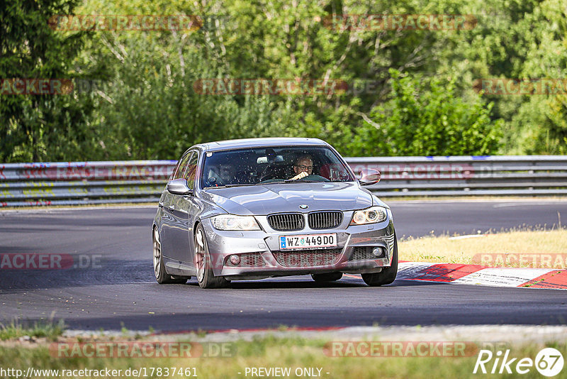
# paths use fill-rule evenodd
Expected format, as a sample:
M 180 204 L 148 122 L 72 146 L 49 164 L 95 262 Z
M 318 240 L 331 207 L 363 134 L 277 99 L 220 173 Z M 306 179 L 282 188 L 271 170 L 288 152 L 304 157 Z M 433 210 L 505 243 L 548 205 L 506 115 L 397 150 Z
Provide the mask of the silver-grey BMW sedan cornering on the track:
M 159 283 L 359 273 L 387 285 L 398 270 L 390 208 L 331 145 L 315 138 L 202 143 L 179 159 L 152 226 Z

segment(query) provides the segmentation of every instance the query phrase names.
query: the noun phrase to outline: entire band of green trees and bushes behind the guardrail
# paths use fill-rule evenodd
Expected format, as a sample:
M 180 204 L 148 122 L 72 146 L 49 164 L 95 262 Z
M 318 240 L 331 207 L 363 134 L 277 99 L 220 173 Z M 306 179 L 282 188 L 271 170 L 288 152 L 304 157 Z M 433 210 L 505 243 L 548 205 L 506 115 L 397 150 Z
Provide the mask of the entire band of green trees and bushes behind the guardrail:
M 194 143 L 263 136 L 318 137 L 351 156 L 564 154 L 566 94 L 474 88 L 482 78 L 565 79 L 563 5 L 13 0 L 0 7 L 0 77 L 96 85 L 67 95 L 0 94 L 0 162 L 174 159 Z M 185 14 L 203 22 L 184 31 L 50 28 L 50 17 L 67 14 Z M 476 23 L 368 30 L 329 22 L 372 14 L 471 15 Z M 196 91 L 209 78 L 345 85 L 311 94 Z

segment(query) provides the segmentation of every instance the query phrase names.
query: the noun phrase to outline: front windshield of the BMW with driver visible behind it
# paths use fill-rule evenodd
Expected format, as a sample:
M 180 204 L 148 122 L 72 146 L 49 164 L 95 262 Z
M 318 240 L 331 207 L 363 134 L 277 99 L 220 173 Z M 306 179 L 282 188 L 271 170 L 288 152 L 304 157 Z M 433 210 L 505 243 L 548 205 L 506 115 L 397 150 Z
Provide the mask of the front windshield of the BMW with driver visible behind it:
M 208 152 L 202 172 L 202 188 L 354 180 L 336 153 L 321 146 Z

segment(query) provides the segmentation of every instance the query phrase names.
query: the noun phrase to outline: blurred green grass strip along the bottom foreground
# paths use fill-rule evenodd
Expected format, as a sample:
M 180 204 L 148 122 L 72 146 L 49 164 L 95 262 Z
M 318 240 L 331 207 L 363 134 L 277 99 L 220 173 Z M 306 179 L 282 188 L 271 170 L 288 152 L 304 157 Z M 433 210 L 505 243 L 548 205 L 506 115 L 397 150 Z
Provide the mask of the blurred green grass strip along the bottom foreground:
M 196 368 L 200 378 L 245 378 L 247 367 L 289 367 L 292 372 L 296 368 L 322 368 L 322 378 L 476 378 L 479 374 L 472 373 L 476 363 L 476 354 L 459 358 L 335 358 L 325 354 L 323 339 L 305 339 L 301 337 L 276 338 L 265 336 L 254 341 L 237 341 L 232 351 L 235 354 L 228 358 L 57 358 L 50 355 L 48 346 L 35 348 L 6 348 L 0 346 L 0 366 L 21 368 L 28 366 L 50 369 L 75 368 L 127 368 L 175 367 Z M 528 344 L 511 346 L 510 357 L 532 358 L 543 347 L 558 348 L 563 356 L 567 356 L 566 344 L 551 344 L 540 346 Z M 491 366 L 487 366 L 491 367 Z M 241 374 L 238 374 L 238 373 Z M 329 373 L 329 374 L 327 374 Z M 249 376 L 249 375 L 248 375 Z M 512 375 L 481 375 L 498 376 L 498 378 L 516 378 Z M 181 378 L 179 375 L 170 376 Z M 250 377 L 250 376 L 249 376 Z M 295 375 L 291 375 L 295 378 Z M 148 375 L 148 378 L 159 378 L 158 375 Z M 532 368 L 522 378 L 541 378 Z M 567 369 L 555 378 L 567 378 Z

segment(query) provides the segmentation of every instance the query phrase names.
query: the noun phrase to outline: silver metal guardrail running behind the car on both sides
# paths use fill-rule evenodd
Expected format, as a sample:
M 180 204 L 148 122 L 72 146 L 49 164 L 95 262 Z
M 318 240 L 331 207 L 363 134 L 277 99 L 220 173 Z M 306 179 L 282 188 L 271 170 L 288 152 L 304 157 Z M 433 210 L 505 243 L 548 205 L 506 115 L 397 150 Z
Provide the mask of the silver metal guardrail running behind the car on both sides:
M 381 197 L 567 194 L 567 156 L 347 158 Z M 0 207 L 157 202 L 175 160 L 0 164 Z

